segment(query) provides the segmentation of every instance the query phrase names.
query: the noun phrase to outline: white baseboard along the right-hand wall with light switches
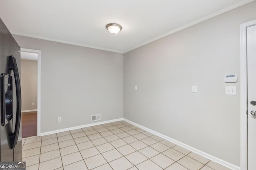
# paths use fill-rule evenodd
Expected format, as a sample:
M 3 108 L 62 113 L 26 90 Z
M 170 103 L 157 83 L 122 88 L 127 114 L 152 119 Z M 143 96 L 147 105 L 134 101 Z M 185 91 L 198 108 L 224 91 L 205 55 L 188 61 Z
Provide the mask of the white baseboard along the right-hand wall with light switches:
M 182 143 L 182 142 L 180 142 L 180 141 L 177 141 L 177 140 L 175 140 L 175 139 L 172 139 L 172 138 L 170 138 L 170 137 L 168 137 L 168 136 L 166 136 L 166 135 L 163 135 L 163 134 L 161 134 L 161 133 L 158 133 L 158 132 L 156 132 L 156 131 L 153 131 L 153 130 L 151 130 L 151 129 L 148 129 L 147 127 L 144 127 L 144 126 L 142 126 L 142 125 L 139 125 L 139 124 L 137 124 L 137 123 L 134 123 L 134 122 L 132 122 L 132 121 L 130 121 L 130 120 L 128 120 L 128 119 L 125 119 L 125 118 L 124 118 L 124 121 L 127 121 L 128 123 L 131 123 L 131 124 L 134 125 L 134 126 L 140 127 L 141 129 L 143 129 L 143 130 L 145 130 L 145 131 L 148 131 L 148 132 L 150 132 L 150 133 L 152 133 L 152 134 L 154 134 L 154 135 L 156 135 L 156 136 L 162 137 L 163 139 L 166 139 L 167 141 L 170 141 L 170 142 L 172 142 L 172 143 L 175 143 L 176 145 L 179 145 L 179 146 L 181 146 L 181 147 L 184 147 L 185 149 L 191 150 L 192 152 L 194 152 L 194 153 L 196 153 L 196 154 L 199 154 L 199 155 L 201 155 L 201 156 L 204 156 L 205 158 L 208 158 L 208 159 L 210 159 L 210 160 L 212 160 L 212 161 L 214 161 L 214 162 L 217 162 L 218 164 L 221 164 L 221 165 L 223 165 L 223 166 L 226 166 L 227 168 L 230 168 L 230 169 L 232 169 L 232 170 L 240 170 L 240 167 L 238 167 L 238 166 L 236 166 L 236 165 L 234 165 L 234 164 L 231 164 L 231 163 L 229 163 L 229 162 L 226 162 L 225 160 L 222 160 L 222 159 L 220 159 L 220 158 L 217 158 L 217 157 L 215 157 L 215 156 L 212 156 L 212 155 L 210 155 L 210 154 L 208 154 L 208 153 L 206 153 L 206 152 L 203 152 L 203 151 L 201 151 L 201 150 L 198 150 L 198 149 L 196 149 L 196 148 L 194 148 L 194 147 L 191 147 L 191 146 L 189 146 L 189 145 L 186 145 L 186 144 L 184 144 L 184 143 Z

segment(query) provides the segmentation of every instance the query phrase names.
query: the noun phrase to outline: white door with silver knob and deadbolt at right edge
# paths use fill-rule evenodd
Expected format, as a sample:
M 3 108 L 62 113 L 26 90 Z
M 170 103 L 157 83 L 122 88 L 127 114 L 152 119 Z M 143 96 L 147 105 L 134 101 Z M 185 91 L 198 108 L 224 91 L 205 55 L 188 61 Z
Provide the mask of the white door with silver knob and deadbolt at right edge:
M 256 25 L 247 27 L 248 170 L 256 170 Z

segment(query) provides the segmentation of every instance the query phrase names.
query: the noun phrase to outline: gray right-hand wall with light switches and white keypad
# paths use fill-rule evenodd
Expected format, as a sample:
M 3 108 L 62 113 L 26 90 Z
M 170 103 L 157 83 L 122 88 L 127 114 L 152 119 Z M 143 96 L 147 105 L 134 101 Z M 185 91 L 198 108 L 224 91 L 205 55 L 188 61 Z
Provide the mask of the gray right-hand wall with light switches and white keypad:
M 124 118 L 240 166 L 240 24 L 255 9 L 254 1 L 125 53 Z M 238 82 L 224 83 L 225 74 Z

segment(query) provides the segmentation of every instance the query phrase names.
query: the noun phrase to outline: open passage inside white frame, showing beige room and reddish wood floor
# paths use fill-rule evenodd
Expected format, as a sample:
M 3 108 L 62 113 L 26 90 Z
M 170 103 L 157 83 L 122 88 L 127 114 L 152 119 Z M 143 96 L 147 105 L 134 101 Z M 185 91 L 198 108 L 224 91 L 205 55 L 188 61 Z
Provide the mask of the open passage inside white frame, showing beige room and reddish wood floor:
M 37 135 L 37 53 L 21 51 L 22 138 Z

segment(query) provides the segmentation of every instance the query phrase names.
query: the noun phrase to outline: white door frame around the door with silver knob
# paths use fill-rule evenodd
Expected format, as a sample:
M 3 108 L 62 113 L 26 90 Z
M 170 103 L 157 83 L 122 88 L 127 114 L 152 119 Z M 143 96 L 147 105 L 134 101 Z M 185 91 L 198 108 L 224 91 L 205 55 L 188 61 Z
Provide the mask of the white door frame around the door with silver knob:
M 241 98 L 240 98 L 240 170 L 247 170 L 247 43 L 246 29 L 256 25 L 252 20 L 240 25 L 240 76 L 241 76 Z

